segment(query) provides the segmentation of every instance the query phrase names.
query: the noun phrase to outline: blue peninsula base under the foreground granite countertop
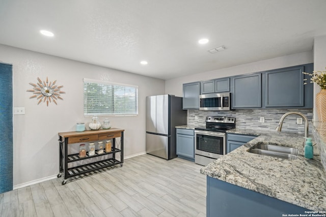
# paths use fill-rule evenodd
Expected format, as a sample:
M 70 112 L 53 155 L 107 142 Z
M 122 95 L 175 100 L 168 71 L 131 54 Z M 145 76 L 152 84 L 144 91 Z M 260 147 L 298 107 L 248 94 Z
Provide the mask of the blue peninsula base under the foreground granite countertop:
M 206 216 L 275 217 L 308 209 L 207 176 Z M 302 215 L 304 216 L 304 215 Z

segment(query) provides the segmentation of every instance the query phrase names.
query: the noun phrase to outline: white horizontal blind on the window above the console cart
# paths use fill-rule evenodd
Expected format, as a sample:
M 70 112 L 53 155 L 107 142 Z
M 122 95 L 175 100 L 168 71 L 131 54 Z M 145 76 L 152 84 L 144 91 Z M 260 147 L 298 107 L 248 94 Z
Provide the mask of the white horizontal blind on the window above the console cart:
M 138 114 L 138 86 L 84 78 L 84 115 Z

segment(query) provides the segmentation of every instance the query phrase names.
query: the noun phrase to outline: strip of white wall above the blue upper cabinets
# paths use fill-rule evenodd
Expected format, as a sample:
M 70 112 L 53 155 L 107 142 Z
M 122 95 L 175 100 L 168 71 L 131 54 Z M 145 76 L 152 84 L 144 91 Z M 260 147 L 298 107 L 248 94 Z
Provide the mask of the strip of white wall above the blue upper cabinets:
M 166 94 L 182 97 L 182 84 L 313 63 L 312 51 L 166 80 Z

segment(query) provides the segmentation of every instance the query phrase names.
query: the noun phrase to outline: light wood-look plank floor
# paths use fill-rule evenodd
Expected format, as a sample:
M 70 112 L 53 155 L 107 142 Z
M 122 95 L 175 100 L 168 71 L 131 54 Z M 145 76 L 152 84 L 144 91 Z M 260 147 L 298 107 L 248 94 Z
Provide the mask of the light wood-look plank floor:
M 79 179 L 44 181 L 0 195 L 1 216 L 206 216 L 202 166 L 149 154 Z

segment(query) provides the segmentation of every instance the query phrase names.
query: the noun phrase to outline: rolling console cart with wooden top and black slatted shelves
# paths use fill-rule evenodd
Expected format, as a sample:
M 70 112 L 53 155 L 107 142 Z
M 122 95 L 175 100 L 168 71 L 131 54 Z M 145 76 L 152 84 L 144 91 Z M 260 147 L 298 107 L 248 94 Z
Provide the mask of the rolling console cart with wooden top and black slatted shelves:
M 64 175 L 64 180 L 62 184 L 67 182 L 67 179 L 73 176 L 89 173 L 95 170 L 99 170 L 106 167 L 114 167 L 120 164 L 123 165 L 123 132 L 124 130 L 112 128 L 110 130 L 97 130 L 97 131 L 84 131 L 84 132 L 64 132 L 59 133 L 59 144 L 60 144 L 60 154 L 59 154 L 59 174 L 58 178 Z M 116 147 L 116 138 L 120 137 L 120 149 Z M 79 153 L 68 154 L 68 145 L 74 143 L 85 143 L 85 142 L 95 142 L 101 140 L 112 139 L 112 148 L 110 151 L 104 149 L 103 153 L 97 154 L 97 150 L 93 156 L 79 158 Z M 120 159 L 116 159 L 116 153 L 120 153 Z M 111 154 L 112 156 L 109 156 Z M 92 159 L 101 156 L 108 156 L 106 159 L 95 159 L 94 162 L 83 164 L 84 160 Z M 80 161 L 82 165 L 68 167 L 68 163 Z

